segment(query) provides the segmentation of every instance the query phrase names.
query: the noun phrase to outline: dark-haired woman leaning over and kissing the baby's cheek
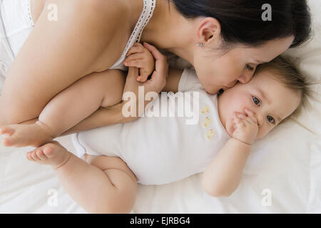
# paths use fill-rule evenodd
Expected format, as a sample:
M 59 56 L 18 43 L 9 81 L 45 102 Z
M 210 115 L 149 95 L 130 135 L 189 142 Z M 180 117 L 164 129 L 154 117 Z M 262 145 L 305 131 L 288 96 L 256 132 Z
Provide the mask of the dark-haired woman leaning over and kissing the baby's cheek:
M 205 90 L 216 93 L 237 81 L 248 82 L 258 64 L 271 61 L 309 36 L 305 1 L 270 0 L 272 21 L 262 19 L 265 3 L 157 0 L 141 41 L 190 62 Z M 49 19 L 52 4 L 57 20 Z M 6 76 L 0 125 L 37 118 L 63 89 L 93 72 L 111 68 L 123 53 L 143 0 L 30 0 L 30 6 L 35 26 Z M 166 89 L 175 92 L 178 81 L 178 77 L 168 78 Z M 98 110 L 78 130 L 122 121 L 113 118 L 108 122 L 103 118 L 108 111 Z

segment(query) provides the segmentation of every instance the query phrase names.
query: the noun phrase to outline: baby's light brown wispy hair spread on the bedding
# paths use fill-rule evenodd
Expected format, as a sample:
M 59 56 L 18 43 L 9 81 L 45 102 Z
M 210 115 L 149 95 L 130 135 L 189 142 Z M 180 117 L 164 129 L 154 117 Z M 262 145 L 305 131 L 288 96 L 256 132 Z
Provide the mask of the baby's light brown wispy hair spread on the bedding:
M 295 66 L 294 59 L 285 56 L 278 56 L 268 63 L 258 66 L 257 71 L 272 71 L 272 75 L 276 81 L 279 81 L 287 88 L 300 93 L 300 104 L 297 109 L 288 117 L 297 117 L 302 113 L 303 108 L 308 108 L 310 103 L 308 98 L 312 98 L 312 85 L 315 83 L 307 77 L 299 68 Z

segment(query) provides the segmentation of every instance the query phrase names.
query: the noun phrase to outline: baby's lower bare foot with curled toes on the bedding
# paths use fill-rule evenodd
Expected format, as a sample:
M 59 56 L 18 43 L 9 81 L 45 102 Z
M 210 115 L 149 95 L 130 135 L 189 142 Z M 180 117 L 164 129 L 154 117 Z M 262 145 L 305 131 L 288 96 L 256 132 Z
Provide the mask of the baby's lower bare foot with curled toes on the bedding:
M 70 157 L 71 152 L 68 152 L 68 150 L 58 142 L 50 142 L 26 153 L 28 160 L 41 165 L 51 165 L 54 169 L 65 165 Z

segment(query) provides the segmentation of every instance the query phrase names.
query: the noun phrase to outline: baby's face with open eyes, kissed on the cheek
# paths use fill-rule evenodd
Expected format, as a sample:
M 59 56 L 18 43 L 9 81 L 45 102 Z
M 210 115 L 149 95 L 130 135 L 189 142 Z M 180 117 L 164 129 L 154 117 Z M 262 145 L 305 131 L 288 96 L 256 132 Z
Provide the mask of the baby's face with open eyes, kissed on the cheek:
M 257 138 L 263 138 L 282 120 L 293 113 L 300 104 L 300 93 L 286 88 L 272 76 L 272 72 L 263 70 L 246 84 L 238 83 L 225 90 L 218 98 L 218 112 L 225 130 L 232 137 L 235 130 L 234 113 L 252 110 L 258 119 Z

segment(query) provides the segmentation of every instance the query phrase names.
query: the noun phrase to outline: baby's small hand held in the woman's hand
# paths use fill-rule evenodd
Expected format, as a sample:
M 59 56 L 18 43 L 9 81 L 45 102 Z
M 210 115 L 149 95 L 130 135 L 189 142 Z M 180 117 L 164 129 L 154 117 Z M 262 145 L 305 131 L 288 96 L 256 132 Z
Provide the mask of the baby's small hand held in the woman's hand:
M 155 69 L 153 55 L 141 43 L 134 43 L 126 56 L 128 57 L 124 61 L 125 66 L 139 68 L 137 81 L 145 82 Z

